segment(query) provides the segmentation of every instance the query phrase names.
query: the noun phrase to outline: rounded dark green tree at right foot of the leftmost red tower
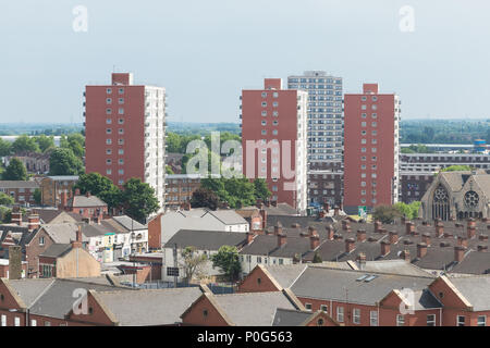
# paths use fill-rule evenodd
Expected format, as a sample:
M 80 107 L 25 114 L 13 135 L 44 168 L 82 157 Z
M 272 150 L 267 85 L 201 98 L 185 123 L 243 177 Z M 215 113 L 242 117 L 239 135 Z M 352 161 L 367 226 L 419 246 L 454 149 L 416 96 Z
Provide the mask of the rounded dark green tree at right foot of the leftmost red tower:
M 135 177 L 124 183 L 121 206 L 128 216 L 142 223 L 145 223 L 148 215 L 156 213 L 160 208 L 158 199 L 155 197 L 155 189 Z

